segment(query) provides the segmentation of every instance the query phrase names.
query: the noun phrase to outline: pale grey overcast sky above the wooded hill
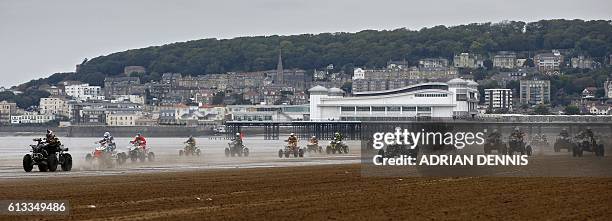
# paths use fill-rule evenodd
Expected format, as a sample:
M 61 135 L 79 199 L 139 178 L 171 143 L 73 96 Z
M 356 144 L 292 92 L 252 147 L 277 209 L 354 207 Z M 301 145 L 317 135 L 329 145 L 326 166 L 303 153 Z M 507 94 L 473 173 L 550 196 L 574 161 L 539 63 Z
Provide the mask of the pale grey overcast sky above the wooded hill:
M 610 0 L 0 0 L 0 86 L 84 58 L 201 38 L 612 19 Z

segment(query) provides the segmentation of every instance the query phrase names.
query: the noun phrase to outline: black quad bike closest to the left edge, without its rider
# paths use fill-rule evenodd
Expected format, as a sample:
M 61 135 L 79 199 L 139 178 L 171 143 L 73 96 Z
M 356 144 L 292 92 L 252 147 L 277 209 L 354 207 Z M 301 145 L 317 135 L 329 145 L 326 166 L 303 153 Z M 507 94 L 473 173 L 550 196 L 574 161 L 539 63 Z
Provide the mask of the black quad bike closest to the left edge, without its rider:
M 59 147 L 49 147 L 46 141 L 37 138 L 33 141 L 36 144 L 30 145 L 32 150 L 31 154 L 23 156 L 23 170 L 25 172 L 31 172 L 34 165 L 38 166 L 40 172 L 57 170 L 57 165 L 60 165 L 63 171 L 72 170 L 72 156 L 67 153 L 68 148 L 64 148 L 64 145 Z

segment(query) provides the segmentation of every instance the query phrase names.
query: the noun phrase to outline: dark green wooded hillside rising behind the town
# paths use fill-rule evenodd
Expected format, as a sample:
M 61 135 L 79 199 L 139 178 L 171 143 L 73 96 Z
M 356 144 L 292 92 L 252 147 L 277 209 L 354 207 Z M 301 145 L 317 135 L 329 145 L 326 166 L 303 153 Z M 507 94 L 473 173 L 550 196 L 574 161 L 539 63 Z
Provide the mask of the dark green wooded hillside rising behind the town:
M 591 56 L 603 63 L 612 51 L 612 22 L 507 21 L 452 27 L 441 25 L 418 31 L 364 30 L 357 33 L 202 39 L 96 57 L 84 61 L 78 73 L 53 74 L 20 85 L 18 89 L 25 91 L 63 80 L 102 85 L 105 77 L 119 75 L 125 66 L 132 65 L 147 68 L 147 74 L 140 76 L 145 82 L 159 79 L 165 72 L 202 75 L 274 69 L 280 48 L 284 67 L 305 70 L 334 64 L 336 69 L 351 71 L 353 67 L 382 67 L 389 60 L 406 59 L 416 63 L 426 57 L 451 59 L 461 52 L 487 56 L 497 51 L 551 49 L 567 49 L 563 51 Z

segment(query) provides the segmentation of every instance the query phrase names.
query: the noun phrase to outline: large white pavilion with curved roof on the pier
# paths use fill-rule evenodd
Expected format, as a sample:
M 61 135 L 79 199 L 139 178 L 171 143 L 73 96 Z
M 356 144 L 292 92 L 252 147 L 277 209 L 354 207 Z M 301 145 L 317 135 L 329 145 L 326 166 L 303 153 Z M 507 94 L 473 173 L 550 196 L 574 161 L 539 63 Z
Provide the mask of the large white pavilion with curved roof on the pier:
M 477 114 L 478 84 L 452 79 L 385 91 L 344 96 L 338 88 L 316 86 L 310 92 L 310 120 L 402 120 L 453 118 Z

